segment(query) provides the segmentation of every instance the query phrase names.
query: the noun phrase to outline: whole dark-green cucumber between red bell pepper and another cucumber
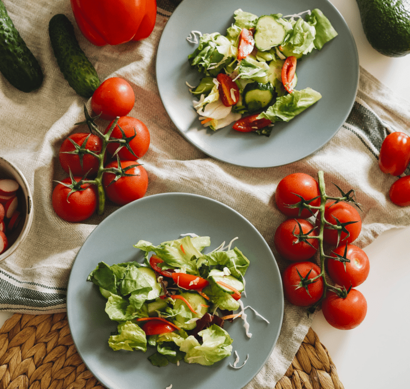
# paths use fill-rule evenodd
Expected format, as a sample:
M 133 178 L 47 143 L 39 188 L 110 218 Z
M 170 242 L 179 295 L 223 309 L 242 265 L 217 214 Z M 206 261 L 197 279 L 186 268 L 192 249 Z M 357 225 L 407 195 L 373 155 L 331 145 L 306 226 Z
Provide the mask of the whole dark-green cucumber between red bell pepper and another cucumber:
M 49 36 L 58 67 L 77 94 L 90 98 L 100 81 L 97 71 L 81 50 L 74 27 L 66 15 L 54 15 L 49 23 Z

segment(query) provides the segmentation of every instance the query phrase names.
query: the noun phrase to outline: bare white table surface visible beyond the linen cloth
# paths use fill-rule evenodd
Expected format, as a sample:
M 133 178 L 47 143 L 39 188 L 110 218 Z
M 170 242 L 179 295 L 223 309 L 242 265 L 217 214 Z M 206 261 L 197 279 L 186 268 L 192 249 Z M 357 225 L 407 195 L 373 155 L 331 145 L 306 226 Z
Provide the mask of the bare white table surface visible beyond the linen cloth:
M 391 58 L 367 42 L 355 0 L 330 0 L 356 41 L 360 65 L 409 101 L 410 54 Z M 410 227 L 385 232 L 365 247 L 371 270 L 357 287 L 366 297 L 367 316 L 357 328 L 331 327 L 319 313 L 312 325 L 329 351 L 346 389 L 410 387 Z M 0 312 L 0 326 L 11 317 Z

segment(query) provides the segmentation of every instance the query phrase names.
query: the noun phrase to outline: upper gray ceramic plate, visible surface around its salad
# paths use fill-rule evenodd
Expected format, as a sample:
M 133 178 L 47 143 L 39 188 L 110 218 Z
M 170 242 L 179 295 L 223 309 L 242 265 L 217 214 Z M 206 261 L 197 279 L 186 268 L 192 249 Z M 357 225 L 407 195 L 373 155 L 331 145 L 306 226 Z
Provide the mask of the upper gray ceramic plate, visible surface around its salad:
M 241 133 L 232 125 L 216 132 L 203 128 L 192 107 L 186 82 L 198 85 L 200 76 L 188 63 L 197 45 L 192 30 L 226 33 L 241 8 L 256 15 L 294 14 L 319 8 L 338 36 L 297 65 L 297 89 L 311 87 L 322 99 L 289 123 L 275 124 L 269 138 Z M 218 160 L 247 167 L 272 167 L 295 162 L 328 142 L 342 126 L 355 101 L 359 60 L 353 35 L 339 11 L 327 0 L 183 0 L 163 30 L 156 59 L 159 94 L 181 134 Z

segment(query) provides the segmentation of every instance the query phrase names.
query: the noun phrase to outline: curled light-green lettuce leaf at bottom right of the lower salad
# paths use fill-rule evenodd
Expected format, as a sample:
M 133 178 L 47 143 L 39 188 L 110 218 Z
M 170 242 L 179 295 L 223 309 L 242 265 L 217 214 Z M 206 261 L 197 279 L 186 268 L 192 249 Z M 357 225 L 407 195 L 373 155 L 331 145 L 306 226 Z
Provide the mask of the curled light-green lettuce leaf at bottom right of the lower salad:
M 231 355 L 232 339 L 223 328 L 213 324 L 198 335 L 202 337 L 202 344 L 192 335 L 186 339 L 174 339 L 180 350 L 186 353 L 185 362 L 209 366 Z

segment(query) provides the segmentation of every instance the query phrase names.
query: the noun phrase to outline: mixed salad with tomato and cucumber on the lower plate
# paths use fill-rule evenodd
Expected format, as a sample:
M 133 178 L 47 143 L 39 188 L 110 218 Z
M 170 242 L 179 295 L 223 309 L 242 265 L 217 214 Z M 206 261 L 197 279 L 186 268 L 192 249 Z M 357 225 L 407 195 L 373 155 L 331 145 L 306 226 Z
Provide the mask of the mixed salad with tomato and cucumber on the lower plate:
M 87 280 L 99 287 L 105 312 L 117 322 L 109 346 L 151 350 L 156 366 L 182 359 L 212 365 L 231 355 L 233 340 L 223 324 L 244 309 L 239 299 L 249 267 L 232 242 L 202 254 L 209 237 L 187 234 L 159 245 L 140 240 L 134 247 L 145 252 L 144 263 L 98 263 Z

